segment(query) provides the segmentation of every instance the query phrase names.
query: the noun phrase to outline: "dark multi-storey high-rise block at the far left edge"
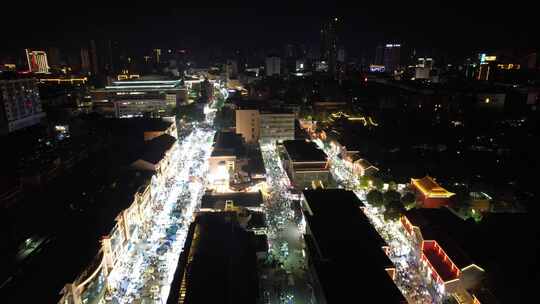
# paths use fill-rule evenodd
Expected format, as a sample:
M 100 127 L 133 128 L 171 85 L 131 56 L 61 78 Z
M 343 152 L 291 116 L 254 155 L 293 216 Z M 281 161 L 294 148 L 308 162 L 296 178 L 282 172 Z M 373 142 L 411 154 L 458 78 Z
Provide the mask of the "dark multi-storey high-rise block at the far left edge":
M 0 79 L 0 134 L 38 124 L 44 116 L 35 79 Z

